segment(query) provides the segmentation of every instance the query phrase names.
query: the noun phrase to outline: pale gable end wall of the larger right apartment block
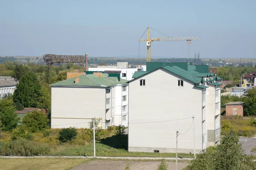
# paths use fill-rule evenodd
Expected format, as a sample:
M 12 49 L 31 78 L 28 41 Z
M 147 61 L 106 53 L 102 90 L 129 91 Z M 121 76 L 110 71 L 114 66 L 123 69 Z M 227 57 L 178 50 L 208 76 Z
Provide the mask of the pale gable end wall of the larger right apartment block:
M 175 152 L 178 130 L 178 152 L 193 152 L 193 126 L 190 128 L 190 117 L 195 115 L 196 151 L 200 152 L 203 147 L 202 90 L 193 88 L 194 84 L 162 69 L 141 79 L 145 79 L 145 86 L 140 86 L 140 79 L 129 83 L 128 150 Z M 178 79 L 184 81 L 183 87 L 177 87 Z

